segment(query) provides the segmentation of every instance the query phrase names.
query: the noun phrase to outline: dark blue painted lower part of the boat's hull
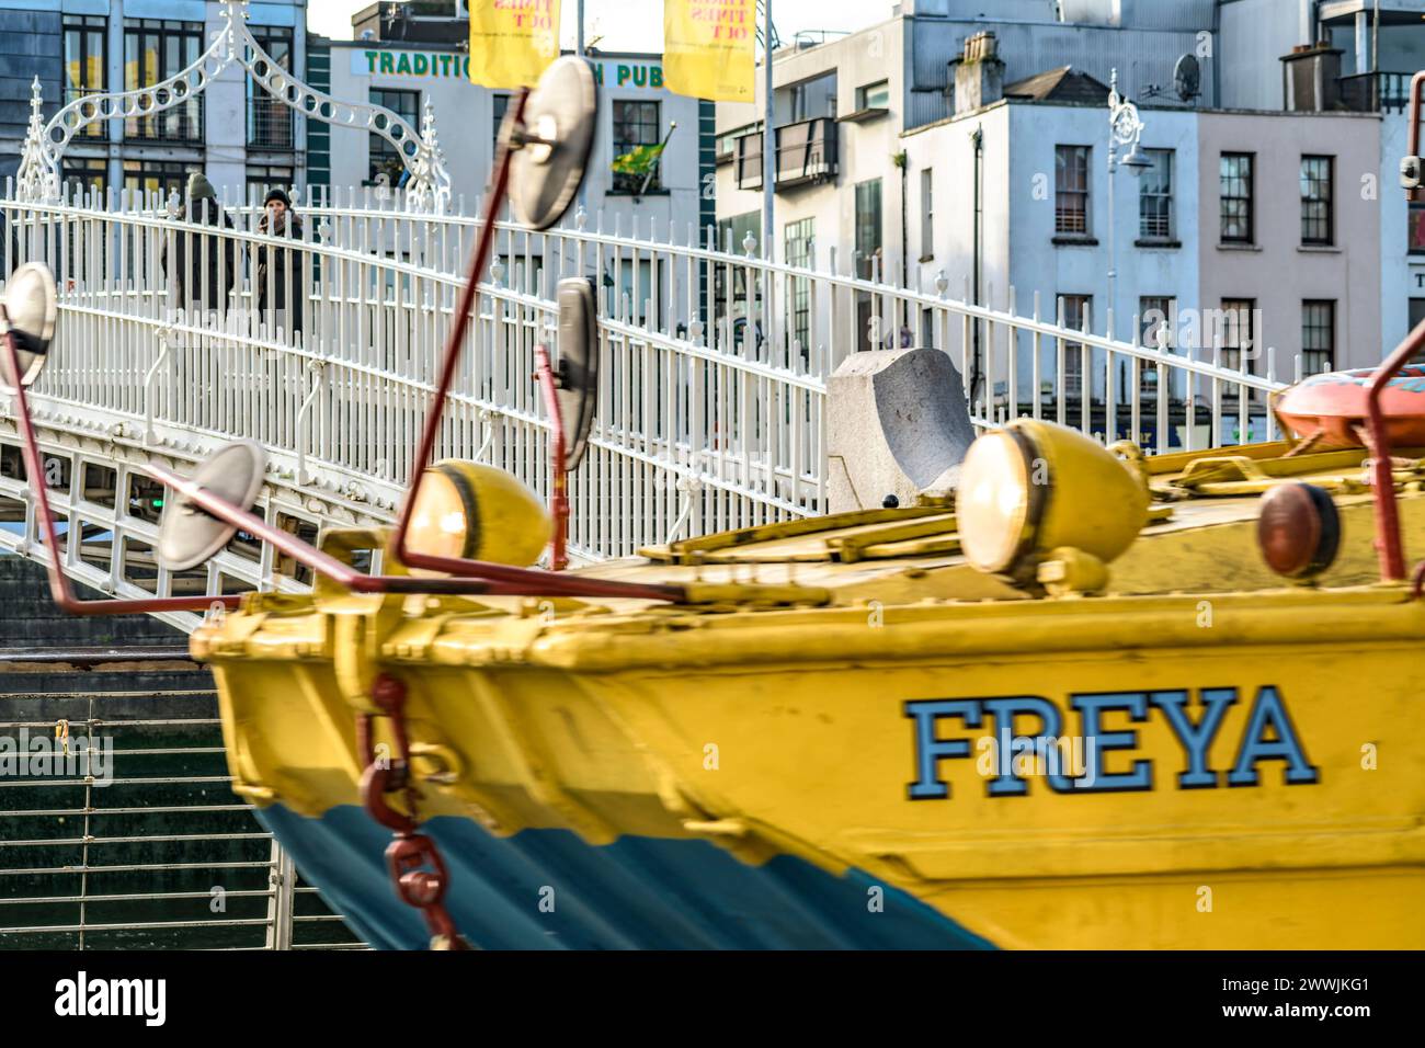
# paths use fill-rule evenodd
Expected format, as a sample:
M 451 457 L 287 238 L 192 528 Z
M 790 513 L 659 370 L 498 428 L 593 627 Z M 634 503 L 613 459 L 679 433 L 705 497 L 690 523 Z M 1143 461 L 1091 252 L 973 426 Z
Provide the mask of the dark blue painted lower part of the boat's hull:
M 425 923 L 386 873 L 390 834 L 365 811 L 342 806 L 316 820 L 274 804 L 258 818 L 362 938 L 386 950 L 426 947 Z M 871 877 L 835 877 L 792 856 L 754 867 L 700 840 L 620 837 L 593 847 L 567 830 L 492 837 L 453 817 L 423 830 L 450 870 L 452 918 L 487 950 L 993 948 L 896 888 L 872 911 Z

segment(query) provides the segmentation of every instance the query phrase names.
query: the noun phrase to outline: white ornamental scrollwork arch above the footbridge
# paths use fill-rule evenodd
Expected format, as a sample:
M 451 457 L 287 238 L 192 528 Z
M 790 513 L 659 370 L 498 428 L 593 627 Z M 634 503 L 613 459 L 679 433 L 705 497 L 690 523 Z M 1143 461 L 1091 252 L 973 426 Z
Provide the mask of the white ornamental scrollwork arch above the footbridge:
M 31 202 L 60 200 L 60 158 L 86 127 L 107 120 L 148 117 L 201 94 L 232 63 L 269 96 L 295 113 L 333 127 L 356 127 L 379 134 L 406 167 L 406 204 L 413 210 L 445 211 L 450 202 L 450 175 L 436 138 L 435 113 L 426 113 L 418 131 L 406 120 L 368 103 L 341 101 L 298 80 L 262 50 L 248 29 L 248 0 L 225 0 L 224 24 L 212 44 L 191 66 L 162 83 L 134 91 L 90 94 L 64 106 L 48 123 L 41 115 L 40 80 L 30 94 L 30 127 L 20 158 L 19 197 Z

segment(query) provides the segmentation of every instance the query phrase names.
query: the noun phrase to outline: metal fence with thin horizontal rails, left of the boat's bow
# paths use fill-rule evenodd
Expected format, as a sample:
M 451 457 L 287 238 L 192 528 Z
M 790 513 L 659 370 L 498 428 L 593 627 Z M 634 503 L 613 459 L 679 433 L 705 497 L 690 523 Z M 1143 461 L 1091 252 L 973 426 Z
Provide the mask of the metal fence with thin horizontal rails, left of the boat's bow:
M 362 945 L 229 791 L 207 670 L 54 656 L 0 652 L 0 950 Z

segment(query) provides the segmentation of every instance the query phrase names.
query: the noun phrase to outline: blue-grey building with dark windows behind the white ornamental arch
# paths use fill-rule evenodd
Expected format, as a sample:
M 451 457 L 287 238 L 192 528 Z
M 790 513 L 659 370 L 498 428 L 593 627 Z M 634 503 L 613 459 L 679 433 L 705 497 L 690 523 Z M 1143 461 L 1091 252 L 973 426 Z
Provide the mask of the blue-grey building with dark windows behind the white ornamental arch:
M 215 0 L 3 0 L 0 177 L 19 167 L 36 77 L 44 117 L 90 94 L 151 87 L 192 64 L 224 24 Z M 305 78 L 306 3 L 248 6 L 254 37 L 275 64 Z M 237 64 L 175 107 L 84 128 L 63 177 L 86 190 L 167 197 L 204 171 L 229 197 L 306 183 L 306 118 L 256 88 Z

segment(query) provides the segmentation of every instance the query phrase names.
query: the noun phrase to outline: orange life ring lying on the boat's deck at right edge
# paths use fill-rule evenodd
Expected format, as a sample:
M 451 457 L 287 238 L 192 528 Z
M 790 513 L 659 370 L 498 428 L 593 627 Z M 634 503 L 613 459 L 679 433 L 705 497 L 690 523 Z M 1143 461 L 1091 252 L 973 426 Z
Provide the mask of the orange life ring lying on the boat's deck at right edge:
M 1375 368 L 1331 371 L 1291 386 L 1275 402 L 1277 418 L 1314 445 L 1361 448 L 1367 395 Z M 1392 448 L 1425 448 L 1425 364 L 1406 364 L 1381 391 L 1381 413 Z

